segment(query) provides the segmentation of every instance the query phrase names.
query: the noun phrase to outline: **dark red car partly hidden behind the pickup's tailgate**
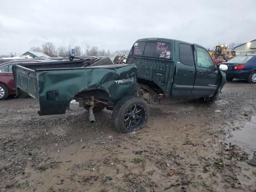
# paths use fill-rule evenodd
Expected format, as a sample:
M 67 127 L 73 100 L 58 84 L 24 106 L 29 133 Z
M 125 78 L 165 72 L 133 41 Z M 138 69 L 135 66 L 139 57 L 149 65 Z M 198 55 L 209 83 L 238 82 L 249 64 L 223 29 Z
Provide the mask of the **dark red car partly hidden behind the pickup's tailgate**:
M 0 100 L 16 94 L 12 65 L 16 63 L 42 62 L 42 60 L 13 60 L 0 64 Z

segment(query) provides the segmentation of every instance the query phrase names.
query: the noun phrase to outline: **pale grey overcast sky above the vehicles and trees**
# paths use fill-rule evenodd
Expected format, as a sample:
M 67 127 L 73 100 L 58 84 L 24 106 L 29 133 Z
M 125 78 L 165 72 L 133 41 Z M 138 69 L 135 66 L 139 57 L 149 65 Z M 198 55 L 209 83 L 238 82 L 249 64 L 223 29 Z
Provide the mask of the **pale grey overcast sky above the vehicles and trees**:
M 114 52 L 147 37 L 206 48 L 256 39 L 256 0 L 0 0 L 0 7 L 0 55 L 48 41 Z

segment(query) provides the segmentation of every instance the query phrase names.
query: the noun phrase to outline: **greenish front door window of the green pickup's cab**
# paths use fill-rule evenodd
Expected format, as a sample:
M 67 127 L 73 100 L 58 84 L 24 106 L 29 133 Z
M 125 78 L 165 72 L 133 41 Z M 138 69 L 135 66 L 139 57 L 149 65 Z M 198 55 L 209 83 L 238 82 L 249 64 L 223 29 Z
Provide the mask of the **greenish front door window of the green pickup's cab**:
M 209 53 L 200 47 L 196 48 L 196 52 L 197 52 L 197 66 L 212 69 L 214 66 L 214 62 L 210 57 Z

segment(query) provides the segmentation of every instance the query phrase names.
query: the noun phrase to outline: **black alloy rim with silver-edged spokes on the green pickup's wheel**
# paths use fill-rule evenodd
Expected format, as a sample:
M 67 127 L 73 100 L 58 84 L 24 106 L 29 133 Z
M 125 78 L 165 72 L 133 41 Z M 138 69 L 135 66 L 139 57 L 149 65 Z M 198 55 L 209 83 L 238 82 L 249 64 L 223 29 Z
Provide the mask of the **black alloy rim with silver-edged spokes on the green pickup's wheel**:
M 124 115 L 124 125 L 128 130 L 137 130 L 145 119 L 145 109 L 139 104 L 130 106 Z

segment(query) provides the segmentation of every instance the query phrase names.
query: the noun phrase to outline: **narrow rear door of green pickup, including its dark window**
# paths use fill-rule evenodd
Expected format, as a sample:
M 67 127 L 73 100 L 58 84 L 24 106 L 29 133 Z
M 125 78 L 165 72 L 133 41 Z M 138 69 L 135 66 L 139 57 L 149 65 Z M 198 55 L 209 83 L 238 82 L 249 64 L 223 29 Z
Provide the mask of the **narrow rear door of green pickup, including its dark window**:
M 172 96 L 192 96 L 196 68 L 191 44 L 175 41 L 176 75 Z

